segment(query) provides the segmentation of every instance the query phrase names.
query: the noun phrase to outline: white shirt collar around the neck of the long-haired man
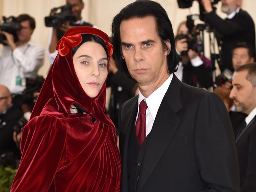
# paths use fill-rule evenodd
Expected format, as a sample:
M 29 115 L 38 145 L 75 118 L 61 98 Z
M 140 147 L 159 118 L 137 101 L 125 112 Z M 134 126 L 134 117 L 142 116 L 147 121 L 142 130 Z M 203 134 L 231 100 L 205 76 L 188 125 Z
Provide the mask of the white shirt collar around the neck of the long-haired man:
M 139 90 L 138 107 L 139 107 L 139 103 L 141 103 L 142 100 L 145 100 L 145 102 L 147 103 L 149 112 L 152 115 L 154 120 L 156 118 L 158 108 L 160 107 L 160 104 L 163 100 L 163 97 L 165 96 L 165 93 L 167 92 L 167 89 L 169 88 L 169 85 L 172 79 L 173 79 L 173 74 L 171 74 L 169 78 L 167 78 L 165 82 L 160 87 L 158 87 L 158 89 L 152 92 L 150 96 L 148 96 L 148 98 L 145 98 Z M 139 111 L 139 108 L 138 108 L 138 111 Z

